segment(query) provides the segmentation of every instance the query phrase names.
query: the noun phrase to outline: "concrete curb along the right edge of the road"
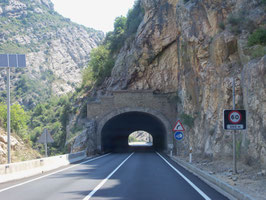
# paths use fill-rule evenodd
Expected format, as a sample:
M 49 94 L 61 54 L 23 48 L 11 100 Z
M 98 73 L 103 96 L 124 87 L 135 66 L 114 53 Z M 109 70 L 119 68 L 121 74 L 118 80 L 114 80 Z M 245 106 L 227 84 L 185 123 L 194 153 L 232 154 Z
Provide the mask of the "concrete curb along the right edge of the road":
M 195 166 L 184 162 L 178 158 L 174 158 L 173 156 L 169 156 L 173 161 L 181 165 L 186 170 L 192 172 L 194 175 L 199 177 L 202 181 L 216 189 L 218 192 L 223 194 L 229 199 L 235 200 L 235 199 L 241 199 L 241 200 L 254 200 L 254 197 L 251 197 L 250 195 L 238 190 L 237 188 L 232 187 L 228 183 L 221 181 L 220 179 L 213 177 L 209 175 L 208 173 L 196 168 Z

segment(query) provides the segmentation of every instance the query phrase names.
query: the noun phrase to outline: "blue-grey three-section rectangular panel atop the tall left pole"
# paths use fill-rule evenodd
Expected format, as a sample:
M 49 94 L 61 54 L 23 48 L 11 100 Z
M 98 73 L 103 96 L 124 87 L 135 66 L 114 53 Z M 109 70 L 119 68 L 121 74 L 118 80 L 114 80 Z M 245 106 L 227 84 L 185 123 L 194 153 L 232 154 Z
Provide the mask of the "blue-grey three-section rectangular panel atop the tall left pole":
M 26 67 L 24 54 L 0 54 L 0 67 Z

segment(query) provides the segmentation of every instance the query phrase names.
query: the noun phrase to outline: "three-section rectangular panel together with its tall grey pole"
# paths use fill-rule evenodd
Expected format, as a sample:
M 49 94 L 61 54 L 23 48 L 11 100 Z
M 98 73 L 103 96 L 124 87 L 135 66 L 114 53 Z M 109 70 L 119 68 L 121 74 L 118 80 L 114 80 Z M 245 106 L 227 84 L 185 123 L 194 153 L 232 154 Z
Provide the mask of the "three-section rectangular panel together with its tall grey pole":
M 26 56 L 19 54 L 0 54 L 0 68 L 7 68 L 7 163 L 11 163 L 10 147 L 10 67 L 26 67 Z

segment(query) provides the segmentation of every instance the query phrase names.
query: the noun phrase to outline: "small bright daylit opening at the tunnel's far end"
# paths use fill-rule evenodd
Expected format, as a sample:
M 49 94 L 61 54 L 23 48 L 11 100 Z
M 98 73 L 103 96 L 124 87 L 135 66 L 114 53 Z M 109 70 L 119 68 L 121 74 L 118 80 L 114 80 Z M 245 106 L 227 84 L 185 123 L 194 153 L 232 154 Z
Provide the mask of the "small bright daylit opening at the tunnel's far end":
M 133 147 L 151 147 L 152 141 L 152 135 L 146 131 L 135 131 L 128 136 L 128 145 Z

